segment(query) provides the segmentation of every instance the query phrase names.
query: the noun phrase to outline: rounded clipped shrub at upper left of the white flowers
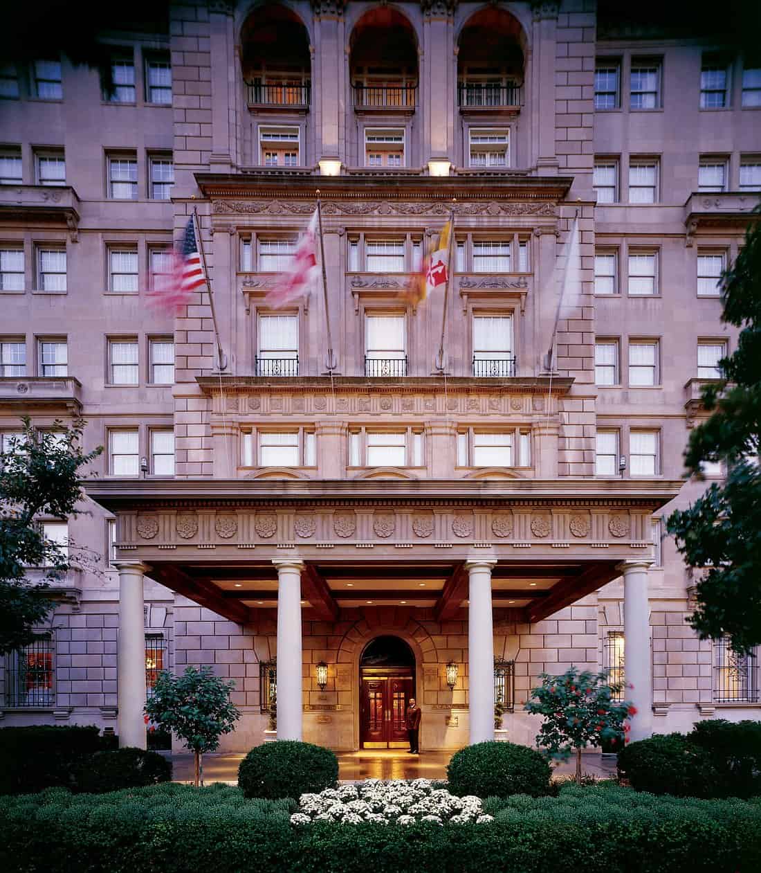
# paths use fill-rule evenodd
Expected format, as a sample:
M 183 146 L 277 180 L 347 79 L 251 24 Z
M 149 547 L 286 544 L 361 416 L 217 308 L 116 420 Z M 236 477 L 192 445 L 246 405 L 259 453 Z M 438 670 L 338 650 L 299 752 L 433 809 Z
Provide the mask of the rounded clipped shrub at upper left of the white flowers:
M 238 785 L 246 797 L 319 794 L 339 778 L 339 760 L 330 749 L 278 739 L 251 749 L 238 767 Z

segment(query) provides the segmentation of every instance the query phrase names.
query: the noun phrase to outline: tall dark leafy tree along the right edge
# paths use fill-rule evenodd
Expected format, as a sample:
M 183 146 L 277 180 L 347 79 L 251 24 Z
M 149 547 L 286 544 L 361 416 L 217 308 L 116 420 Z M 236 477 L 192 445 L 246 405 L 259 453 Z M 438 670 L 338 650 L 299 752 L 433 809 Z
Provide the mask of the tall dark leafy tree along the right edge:
M 702 639 L 729 636 L 747 654 L 761 643 L 761 223 L 723 274 L 722 302 L 722 320 L 741 328 L 737 348 L 720 361 L 722 378 L 703 389 L 711 415 L 690 434 L 684 463 L 701 478 L 705 462 L 721 462 L 726 478 L 672 512 L 667 530 L 700 571 L 689 623 Z

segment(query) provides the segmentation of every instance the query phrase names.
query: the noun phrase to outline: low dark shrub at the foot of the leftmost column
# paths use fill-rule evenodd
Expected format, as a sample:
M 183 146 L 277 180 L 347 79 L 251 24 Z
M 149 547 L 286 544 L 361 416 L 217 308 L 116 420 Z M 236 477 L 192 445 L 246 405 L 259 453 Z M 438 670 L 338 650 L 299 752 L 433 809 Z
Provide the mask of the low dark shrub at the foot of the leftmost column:
M 73 775 L 77 791 L 104 794 L 168 782 L 172 778 L 172 763 L 157 752 L 126 747 L 89 755 Z

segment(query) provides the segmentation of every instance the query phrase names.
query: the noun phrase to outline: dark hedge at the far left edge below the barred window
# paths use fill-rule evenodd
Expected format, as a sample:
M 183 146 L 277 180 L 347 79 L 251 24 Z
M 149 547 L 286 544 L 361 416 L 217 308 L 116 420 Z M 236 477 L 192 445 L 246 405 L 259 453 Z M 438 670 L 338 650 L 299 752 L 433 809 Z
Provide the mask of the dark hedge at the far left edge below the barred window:
M 0 728 L 0 794 L 68 787 L 79 762 L 106 742 L 94 725 Z

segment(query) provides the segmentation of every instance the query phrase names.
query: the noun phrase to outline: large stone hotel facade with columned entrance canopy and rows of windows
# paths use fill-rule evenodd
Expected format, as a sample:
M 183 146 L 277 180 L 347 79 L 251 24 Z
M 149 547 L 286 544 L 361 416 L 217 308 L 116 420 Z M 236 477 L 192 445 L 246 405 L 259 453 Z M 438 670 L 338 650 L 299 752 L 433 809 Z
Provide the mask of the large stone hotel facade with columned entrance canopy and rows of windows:
M 571 664 L 626 672 L 635 736 L 758 716 L 755 659 L 685 624 L 662 518 L 704 487 L 682 450 L 736 340 L 716 278 L 761 71 L 645 24 L 199 0 L 103 35 L 113 93 L 3 71 L 0 430 L 81 415 L 105 447 L 86 512 L 44 519 L 99 569 L 7 659 L 4 725 L 141 745 L 188 664 L 235 682 L 237 750 L 275 689 L 278 735 L 334 748 L 394 746 L 411 694 L 425 748 L 490 738 L 495 694 L 531 743 L 527 691 Z M 318 197 L 326 292 L 274 310 Z M 148 292 L 194 213 L 215 312 L 173 319 Z M 447 291 L 415 303 L 449 217 Z

